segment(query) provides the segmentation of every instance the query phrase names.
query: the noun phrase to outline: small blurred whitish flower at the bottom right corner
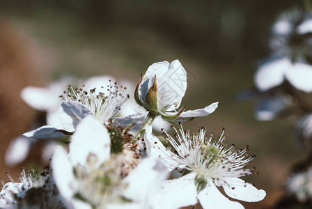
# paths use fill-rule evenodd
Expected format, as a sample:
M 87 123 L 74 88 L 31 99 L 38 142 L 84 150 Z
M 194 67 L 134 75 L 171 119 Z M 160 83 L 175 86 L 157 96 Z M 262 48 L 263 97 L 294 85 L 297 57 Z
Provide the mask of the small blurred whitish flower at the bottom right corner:
M 312 199 L 312 167 L 307 171 L 292 174 L 287 182 L 288 191 L 295 194 L 299 201 Z

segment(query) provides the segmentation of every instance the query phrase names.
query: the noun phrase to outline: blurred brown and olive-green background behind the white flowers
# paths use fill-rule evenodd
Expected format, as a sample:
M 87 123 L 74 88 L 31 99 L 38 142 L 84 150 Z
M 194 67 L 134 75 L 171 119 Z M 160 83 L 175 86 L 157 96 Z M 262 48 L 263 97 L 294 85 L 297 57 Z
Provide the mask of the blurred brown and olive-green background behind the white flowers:
M 306 157 L 290 122 L 254 118 L 257 100 L 237 94 L 253 86 L 258 63 L 270 54 L 272 24 L 299 0 L 240 1 L 0 1 L 0 177 L 21 167 L 36 167 L 40 146 L 16 167 L 3 156 L 10 140 L 31 130 L 43 113 L 20 99 L 26 86 L 46 86 L 63 76 L 111 75 L 139 82 L 158 61 L 179 59 L 187 68 L 189 88 L 182 104 L 197 109 L 219 101 L 219 108 L 185 128 L 205 126 L 217 139 L 222 127 L 227 144 L 257 155 L 245 178 L 267 197 L 247 208 L 270 208 L 283 195 L 292 164 Z M 44 117 L 44 114 L 43 114 Z

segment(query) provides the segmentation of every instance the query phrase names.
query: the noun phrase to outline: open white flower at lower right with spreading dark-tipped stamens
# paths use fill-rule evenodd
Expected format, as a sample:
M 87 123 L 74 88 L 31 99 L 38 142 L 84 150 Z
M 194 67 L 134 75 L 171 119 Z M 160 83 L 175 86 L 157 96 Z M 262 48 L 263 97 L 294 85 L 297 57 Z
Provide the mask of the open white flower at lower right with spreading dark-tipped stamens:
M 226 148 L 223 144 L 224 133 L 217 142 L 212 141 L 212 136 L 209 139 L 205 138 L 204 128 L 201 128 L 199 134 L 193 135 L 180 129 L 180 132 L 176 133 L 177 141 L 168 134 L 166 136 L 176 153 L 164 148 L 151 133 L 151 128 L 146 128 L 144 139 L 148 155 L 161 159 L 169 170 L 173 167 L 184 167 L 190 173 L 178 179 L 168 180 L 163 185 L 164 208 L 194 205 L 197 199 L 203 208 L 243 208 L 240 203 L 223 196 L 217 189 L 219 186 L 233 199 L 253 202 L 265 197 L 265 191 L 258 190 L 240 179 L 254 173 L 253 169 L 245 169 L 253 159 L 246 155 L 248 148 Z

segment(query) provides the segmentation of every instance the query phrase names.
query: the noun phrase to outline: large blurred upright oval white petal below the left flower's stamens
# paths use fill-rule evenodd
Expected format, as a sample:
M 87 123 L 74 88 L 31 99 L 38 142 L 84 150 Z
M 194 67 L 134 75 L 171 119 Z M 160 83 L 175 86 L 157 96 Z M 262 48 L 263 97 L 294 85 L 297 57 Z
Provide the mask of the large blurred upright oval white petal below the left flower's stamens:
M 73 165 L 86 164 L 87 157 L 93 153 L 98 156 L 98 163 L 110 157 L 111 138 L 107 128 L 93 116 L 87 116 L 72 135 L 69 159 Z

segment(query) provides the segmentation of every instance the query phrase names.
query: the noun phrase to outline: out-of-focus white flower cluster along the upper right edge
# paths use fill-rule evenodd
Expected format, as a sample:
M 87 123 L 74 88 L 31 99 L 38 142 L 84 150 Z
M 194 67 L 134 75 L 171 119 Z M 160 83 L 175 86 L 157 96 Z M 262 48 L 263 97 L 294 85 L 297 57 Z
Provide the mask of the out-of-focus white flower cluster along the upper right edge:
M 284 13 L 272 31 L 272 55 L 254 77 L 260 99 L 256 118 L 271 121 L 276 116 L 295 116 L 297 139 L 306 144 L 312 138 L 311 13 L 295 9 Z

